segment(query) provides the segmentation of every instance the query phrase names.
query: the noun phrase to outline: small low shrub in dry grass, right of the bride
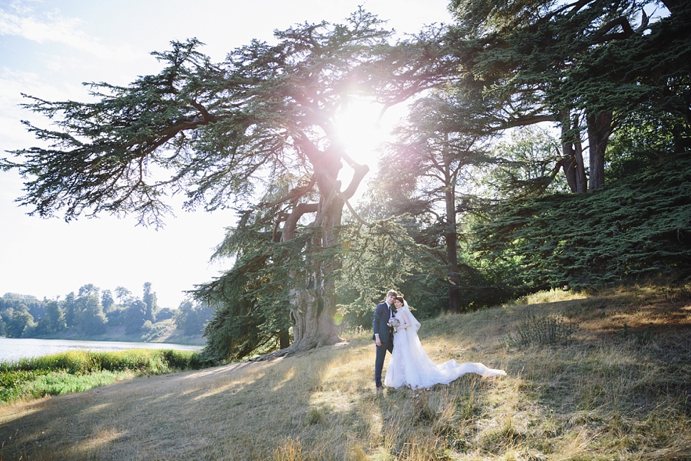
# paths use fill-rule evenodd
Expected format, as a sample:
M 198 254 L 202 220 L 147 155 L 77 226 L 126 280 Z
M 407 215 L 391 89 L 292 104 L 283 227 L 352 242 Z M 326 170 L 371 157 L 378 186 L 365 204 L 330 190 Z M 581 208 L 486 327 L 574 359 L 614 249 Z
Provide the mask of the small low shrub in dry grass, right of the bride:
M 568 323 L 562 316 L 529 316 L 510 329 L 502 339 L 507 348 L 546 346 L 566 343 L 578 325 Z

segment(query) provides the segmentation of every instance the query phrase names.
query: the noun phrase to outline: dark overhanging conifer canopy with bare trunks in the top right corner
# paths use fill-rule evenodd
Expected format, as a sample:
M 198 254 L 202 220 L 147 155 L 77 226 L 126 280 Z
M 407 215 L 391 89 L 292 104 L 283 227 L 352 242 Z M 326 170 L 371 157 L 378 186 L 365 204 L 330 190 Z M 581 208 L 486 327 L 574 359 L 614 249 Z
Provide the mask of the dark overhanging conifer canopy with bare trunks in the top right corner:
M 658 1 L 454 0 L 450 38 L 462 75 L 494 101 L 493 128 L 561 125 L 561 167 L 571 190 L 586 192 L 586 173 L 591 190 L 603 185 L 608 138 L 630 115 L 691 122 L 689 5 L 665 6 L 650 17 Z M 677 130 L 675 152 L 689 139 Z

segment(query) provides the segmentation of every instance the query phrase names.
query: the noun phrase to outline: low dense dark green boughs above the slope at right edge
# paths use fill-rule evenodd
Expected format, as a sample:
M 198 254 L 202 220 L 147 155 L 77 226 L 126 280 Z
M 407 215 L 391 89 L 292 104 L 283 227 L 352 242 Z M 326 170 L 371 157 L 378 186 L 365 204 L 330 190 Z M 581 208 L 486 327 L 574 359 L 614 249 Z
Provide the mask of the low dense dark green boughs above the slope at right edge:
M 546 195 L 497 207 L 474 228 L 488 264 L 514 261 L 511 284 L 602 286 L 691 270 L 691 156 L 664 159 L 594 195 Z

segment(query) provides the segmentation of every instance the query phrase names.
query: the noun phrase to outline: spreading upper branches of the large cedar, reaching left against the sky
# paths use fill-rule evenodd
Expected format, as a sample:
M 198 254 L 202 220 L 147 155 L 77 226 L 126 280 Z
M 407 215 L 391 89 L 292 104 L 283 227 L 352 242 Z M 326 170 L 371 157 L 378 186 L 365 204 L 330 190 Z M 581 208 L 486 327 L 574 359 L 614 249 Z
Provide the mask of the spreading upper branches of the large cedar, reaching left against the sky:
M 313 180 L 286 202 L 328 195 L 324 172 L 336 177 L 342 159 L 362 170 L 334 148 L 333 118 L 348 93 L 376 89 L 357 69 L 385 46 L 390 32 L 380 24 L 360 10 L 345 24 L 295 26 L 276 33 L 279 43 L 252 41 L 222 63 L 200 53 L 197 39 L 172 42 L 152 53 L 164 64 L 159 74 L 125 87 L 91 83 L 96 102 L 27 96 L 25 108 L 57 128 L 26 122 L 48 147 L 17 150 L 1 165 L 27 178 L 19 201 L 33 214 L 68 220 L 135 213 L 160 225 L 167 195 L 187 195 L 189 208 L 251 205 L 262 180 L 295 171 Z

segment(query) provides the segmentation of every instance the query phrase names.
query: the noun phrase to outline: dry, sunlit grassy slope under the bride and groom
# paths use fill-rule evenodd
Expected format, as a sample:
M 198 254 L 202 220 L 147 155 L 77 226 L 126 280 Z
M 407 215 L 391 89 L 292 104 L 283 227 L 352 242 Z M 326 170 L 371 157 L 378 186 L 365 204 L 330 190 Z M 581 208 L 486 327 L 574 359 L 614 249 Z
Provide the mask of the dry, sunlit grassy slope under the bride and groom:
M 689 289 L 552 291 L 425 321 L 437 363 L 508 376 L 422 392 L 374 390 L 369 336 L 4 405 L 0 460 L 691 460 Z

